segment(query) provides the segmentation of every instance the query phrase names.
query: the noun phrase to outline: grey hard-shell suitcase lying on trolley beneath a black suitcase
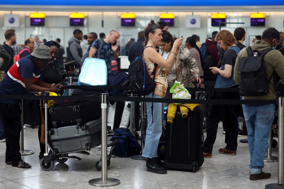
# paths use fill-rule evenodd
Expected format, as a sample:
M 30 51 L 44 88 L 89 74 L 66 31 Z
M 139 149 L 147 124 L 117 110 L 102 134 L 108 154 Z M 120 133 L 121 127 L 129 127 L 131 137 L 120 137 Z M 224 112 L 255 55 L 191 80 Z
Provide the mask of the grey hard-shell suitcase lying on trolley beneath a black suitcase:
M 52 148 L 57 154 L 90 150 L 101 143 L 102 119 L 87 122 L 79 129 L 76 125 L 49 130 Z

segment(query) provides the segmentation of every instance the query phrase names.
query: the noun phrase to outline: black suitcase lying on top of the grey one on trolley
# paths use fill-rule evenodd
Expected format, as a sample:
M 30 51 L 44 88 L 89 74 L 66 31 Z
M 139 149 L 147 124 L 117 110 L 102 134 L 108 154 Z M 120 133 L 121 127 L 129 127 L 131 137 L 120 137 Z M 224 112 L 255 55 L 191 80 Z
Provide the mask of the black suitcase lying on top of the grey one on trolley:
M 77 125 L 77 128 L 89 121 L 101 117 L 99 101 L 69 101 L 55 103 L 49 109 L 53 127 Z

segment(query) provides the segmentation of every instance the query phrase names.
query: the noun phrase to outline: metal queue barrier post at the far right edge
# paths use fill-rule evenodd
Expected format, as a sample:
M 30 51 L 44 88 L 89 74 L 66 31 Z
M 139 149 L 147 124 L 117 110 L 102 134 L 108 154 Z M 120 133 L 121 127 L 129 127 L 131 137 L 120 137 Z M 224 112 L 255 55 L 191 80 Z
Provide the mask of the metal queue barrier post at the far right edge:
M 265 189 L 284 188 L 284 97 L 278 98 L 278 183 L 267 184 Z

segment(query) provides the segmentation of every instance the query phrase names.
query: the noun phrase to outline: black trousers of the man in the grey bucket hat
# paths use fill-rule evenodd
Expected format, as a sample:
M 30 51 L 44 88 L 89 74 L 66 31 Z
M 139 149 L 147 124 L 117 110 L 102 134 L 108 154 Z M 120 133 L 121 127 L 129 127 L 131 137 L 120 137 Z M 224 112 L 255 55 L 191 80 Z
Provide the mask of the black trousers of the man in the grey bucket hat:
M 20 153 L 21 114 L 20 103 L 5 104 L 0 102 L 0 117 L 6 135 L 5 163 L 12 161 L 12 164 L 17 164 L 22 161 Z

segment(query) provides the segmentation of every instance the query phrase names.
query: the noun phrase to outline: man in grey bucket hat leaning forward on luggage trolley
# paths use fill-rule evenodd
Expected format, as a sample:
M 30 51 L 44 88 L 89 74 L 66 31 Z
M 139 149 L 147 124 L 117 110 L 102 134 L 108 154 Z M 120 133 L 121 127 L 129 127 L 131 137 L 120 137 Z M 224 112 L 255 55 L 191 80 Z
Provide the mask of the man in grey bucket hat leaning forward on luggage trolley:
M 41 70 L 51 60 L 50 48 L 39 43 L 32 54 L 17 61 L 0 83 L 0 94 L 28 94 L 28 91 L 50 91 L 60 93 L 60 84 L 42 82 Z M 21 100 L 0 98 L 0 117 L 6 132 L 6 164 L 13 167 L 30 168 L 20 154 Z

